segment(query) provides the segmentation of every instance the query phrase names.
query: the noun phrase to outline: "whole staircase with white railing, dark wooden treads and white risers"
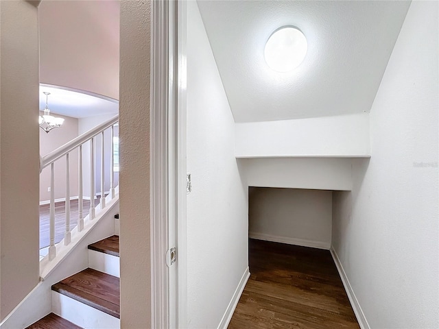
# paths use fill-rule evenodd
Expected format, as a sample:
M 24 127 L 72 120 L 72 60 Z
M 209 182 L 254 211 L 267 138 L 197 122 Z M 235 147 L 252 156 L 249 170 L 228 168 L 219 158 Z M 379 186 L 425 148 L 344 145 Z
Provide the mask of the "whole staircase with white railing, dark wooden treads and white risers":
M 49 219 L 40 230 L 48 235 L 47 255 L 40 257 L 40 281 L 0 322 L 1 329 L 120 328 L 119 236 L 113 235 L 119 234 L 119 166 L 113 143 L 118 122 L 118 116 L 112 117 L 40 157 L 40 172 L 50 170 Z M 73 152 L 77 164 L 71 161 Z M 54 193 L 59 186 L 55 178 L 63 179 L 55 175 L 60 165 L 65 166 L 63 209 L 56 208 Z M 78 179 L 70 175 L 73 167 Z M 83 169 L 88 169 L 86 175 Z M 78 189 L 71 193 L 73 184 Z M 71 204 L 71 199 L 78 201 Z

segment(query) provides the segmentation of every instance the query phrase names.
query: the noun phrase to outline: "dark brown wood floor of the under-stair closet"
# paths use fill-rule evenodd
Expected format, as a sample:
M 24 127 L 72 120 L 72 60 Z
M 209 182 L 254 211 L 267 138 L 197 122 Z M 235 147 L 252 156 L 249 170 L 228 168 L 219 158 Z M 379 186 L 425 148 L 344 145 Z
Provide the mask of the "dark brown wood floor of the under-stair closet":
M 249 267 L 228 329 L 359 329 L 329 250 L 250 239 Z

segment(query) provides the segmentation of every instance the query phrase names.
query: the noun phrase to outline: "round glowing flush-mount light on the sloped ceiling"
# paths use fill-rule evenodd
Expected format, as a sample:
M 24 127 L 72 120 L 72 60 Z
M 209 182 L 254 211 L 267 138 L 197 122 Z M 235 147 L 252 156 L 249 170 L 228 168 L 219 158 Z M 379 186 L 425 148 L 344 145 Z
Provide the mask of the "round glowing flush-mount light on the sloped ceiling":
M 284 26 L 268 38 L 264 56 L 270 69 L 277 72 L 288 72 L 296 69 L 307 55 L 307 38 L 299 29 Z

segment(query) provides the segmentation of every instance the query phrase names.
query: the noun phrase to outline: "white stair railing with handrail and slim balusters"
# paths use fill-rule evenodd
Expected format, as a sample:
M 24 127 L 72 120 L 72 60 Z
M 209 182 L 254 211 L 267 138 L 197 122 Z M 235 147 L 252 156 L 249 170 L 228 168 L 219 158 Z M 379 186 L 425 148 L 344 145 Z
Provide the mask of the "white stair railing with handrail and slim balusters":
M 66 159 L 66 202 L 65 202 L 65 232 L 64 232 L 64 245 L 69 245 L 71 243 L 71 213 L 70 213 L 70 199 L 71 199 L 71 191 L 70 191 L 70 163 L 69 163 L 69 154 L 75 149 L 78 149 L 78 232 L 84 230 L 84 208 L 83 208 L 83 162 L 82 162 L 82 146 L 86 143 L 89 143 L 90 146 L 90 212 L 89 219 L 93 220 L 95 218 L 95 137 L 97 135 L 101 135 L 101 166 L 100 166 L 100 180 L 101 180 L 101 197 L 100 197 L 100 208 L 104 209 L 106 207 L 105 201 L 105 186 L 106 186 L 106 176 L 105 176 L 105 138 L 104 132 L 106 130 L 110 130 L 111 139 L 109 143 L 111 144 L 111 154 L 110 154 L 110 199 L 115 197 L 115 186 L 114 186 L 114 148 L 113 148 L 113 136 L 114 136 L 114 127 L 119 122 L 119 116 L 112 117 L 108 121 L 97 125 L 88 132 L 74 138 L 69 143 L 58 147 L 54 151 L 51 151 L 46 156 L 43 156 L 40 159 L 40 173 L 45 169 L 45 167 L 50 166 L 51 168 L 51 192 L 50 192 L 50 209 L 49 209 L 49 260 L 53 260 L 56 257 L 56 243 L 55 243 L 55 175 L 54 175 L 54 167 L 55 162 L 60 158 Z M 98 176 L 99 177 L 99 176 Z

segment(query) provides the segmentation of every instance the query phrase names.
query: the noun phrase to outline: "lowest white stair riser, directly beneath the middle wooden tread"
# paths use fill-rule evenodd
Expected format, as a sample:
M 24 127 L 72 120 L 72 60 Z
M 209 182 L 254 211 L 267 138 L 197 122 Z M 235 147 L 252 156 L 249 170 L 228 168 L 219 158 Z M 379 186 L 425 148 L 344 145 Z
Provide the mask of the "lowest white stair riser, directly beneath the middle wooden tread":
M 91 306 L 52 291 L 52 312 L 85 329 L 119 329 L 121 321 Z

